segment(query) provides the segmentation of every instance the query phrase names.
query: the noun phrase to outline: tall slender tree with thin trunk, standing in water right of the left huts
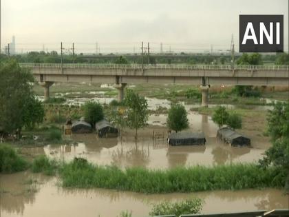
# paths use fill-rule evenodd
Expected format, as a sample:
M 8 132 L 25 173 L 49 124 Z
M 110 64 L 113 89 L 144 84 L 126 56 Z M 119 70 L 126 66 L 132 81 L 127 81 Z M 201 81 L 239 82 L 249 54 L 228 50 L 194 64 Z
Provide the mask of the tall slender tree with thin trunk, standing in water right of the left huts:
M 133 92 L 133 90 L 127 89 L 125 105 L 127 106 L 127 126 L 136 130 L 136 138 L 138 138 L 138 129 L 144 127 L 149 118 L 147 100 Z

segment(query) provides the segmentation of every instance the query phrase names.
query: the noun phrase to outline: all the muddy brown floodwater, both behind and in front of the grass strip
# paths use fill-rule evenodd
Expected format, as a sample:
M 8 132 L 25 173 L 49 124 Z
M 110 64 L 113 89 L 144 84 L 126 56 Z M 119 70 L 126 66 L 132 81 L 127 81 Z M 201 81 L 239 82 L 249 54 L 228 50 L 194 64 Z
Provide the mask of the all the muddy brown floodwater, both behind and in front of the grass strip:
M 103 94 L 103 93 L 98 93 Z M 92 101 L 109 103 L 113 98 L 98 96 Z M 81 105 L 87 98 L 69 99 L 69 105 Z M 149 109 L 170 107 L 170 101 L 148 99 Z M 252 147 L 231 147 L 216 138 L 217 125 L 210 116 L 188 112 L 190 130 L 204 132 L 206 145 L 169 147 L 167 145 L 166 114 L 151 114 L 149 127 L 140 130 L 136 143 L 133 132 L 125 130 L 122 138 L 98 138 L 96 134 L 74 135 L 74 145 L 54 145 L 23 148 L 25 154 L 45 154 L 50 158 L 70 161 L 74 157 L 87 158 L 98 165 L 120 167 L 142 166 L 167 169 L 178 165 L 222 165 L 255 162 L 270 147 L 268 138 L 250 136 Z M 212 105 L 215 106 L 215 105 Z M 234 107 L 235 105 L 226 105 Z M 267 110 L 270 107 L 255 107 Z M 158 134 L 158 139 L 152 136 Z M 205 201 L 202 213 L 253 211 L 257 209 L 289 208 L 289 198 L 282 190 L 261 189 L 242 191 L 197 192 L 193 194 L 138 194 L 108 189 L 63 189 L 55 177 L 21 172 L 0 176 L 1 217 L 6 216 L 119 216 L 131 210 L 133 216 L 148 216 L 152 204 L 160 201 L 198 197 Z

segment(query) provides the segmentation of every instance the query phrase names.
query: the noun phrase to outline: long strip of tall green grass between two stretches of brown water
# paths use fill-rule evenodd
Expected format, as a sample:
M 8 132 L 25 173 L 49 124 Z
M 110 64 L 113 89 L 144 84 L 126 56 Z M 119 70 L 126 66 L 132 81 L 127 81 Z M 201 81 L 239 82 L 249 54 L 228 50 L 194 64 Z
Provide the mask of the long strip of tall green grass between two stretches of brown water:
M 276 169 L 265 170 L 255 164 L 122 170 L 116 166 L 92 165 L 81 158 L 64 163 L 60 176 L 63 187 L 98 187 L 147 194 L 283 187 L 285 183 Z

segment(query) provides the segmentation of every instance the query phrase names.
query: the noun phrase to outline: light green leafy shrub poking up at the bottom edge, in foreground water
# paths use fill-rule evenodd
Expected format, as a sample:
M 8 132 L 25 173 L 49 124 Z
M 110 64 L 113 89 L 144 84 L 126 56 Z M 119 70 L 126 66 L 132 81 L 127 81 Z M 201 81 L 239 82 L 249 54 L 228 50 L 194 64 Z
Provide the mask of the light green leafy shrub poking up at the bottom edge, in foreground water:
M 150 216 L 199 214 L 204 201 L 200 198 L 191 198 L 181 202 L 169 203 L 167 201 L 154 204 L 149 212 Z

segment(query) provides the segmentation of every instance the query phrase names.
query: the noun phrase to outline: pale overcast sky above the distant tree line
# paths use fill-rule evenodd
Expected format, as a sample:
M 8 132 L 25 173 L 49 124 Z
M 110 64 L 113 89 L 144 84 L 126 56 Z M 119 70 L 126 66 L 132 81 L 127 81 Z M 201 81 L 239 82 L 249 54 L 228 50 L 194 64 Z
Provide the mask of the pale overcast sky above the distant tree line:
M 155 51 L 229 49 L 239 43 L 239 14 L 283 14 L 288 50 L 288 0 L 1 0 L 1 43 L 17 50 Z M 238 49 L 238 48 L 237 48 Z

